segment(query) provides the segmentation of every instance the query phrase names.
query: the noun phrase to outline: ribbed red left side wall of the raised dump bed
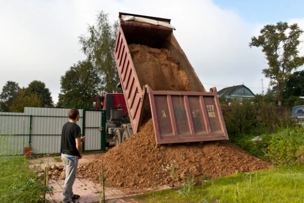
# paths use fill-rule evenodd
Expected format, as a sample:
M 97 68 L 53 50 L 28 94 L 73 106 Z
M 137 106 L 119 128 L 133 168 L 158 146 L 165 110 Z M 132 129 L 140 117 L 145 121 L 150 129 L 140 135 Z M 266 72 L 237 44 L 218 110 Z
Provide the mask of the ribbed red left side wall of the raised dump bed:
M 140 124 L 142 97 L 144 93 L 140 87 L 128 44 L 121 27 L 119 29 L 114 55 L 133 132 L 136 133 Z

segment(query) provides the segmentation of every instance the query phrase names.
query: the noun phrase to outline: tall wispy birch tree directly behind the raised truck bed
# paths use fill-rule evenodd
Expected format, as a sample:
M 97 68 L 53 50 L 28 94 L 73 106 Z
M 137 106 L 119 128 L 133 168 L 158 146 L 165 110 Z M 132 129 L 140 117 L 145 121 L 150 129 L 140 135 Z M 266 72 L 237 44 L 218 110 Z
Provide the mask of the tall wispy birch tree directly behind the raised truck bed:
M 96 20 L 95 25 L 88 26 L 88 36 L 79 37 L 82 51 L 87 55 L 87 60 L 98 70 L 101 92 L 121 92 L 121 88 L 117 88 L 120 80 L 114 58 L 118 21 L 111 24 L 108 14 L 103 11 L 97 15 Z

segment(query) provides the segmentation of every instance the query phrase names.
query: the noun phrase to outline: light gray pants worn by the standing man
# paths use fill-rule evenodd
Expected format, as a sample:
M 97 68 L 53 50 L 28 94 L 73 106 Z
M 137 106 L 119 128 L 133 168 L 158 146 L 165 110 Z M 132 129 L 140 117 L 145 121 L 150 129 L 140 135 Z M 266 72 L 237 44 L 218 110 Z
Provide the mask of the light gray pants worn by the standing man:
M 76 178 L 79 157 L 68 154 L 61 154 L 61 159 L 65 167 L 63 202 L 69 202 L 74 196 L 72 186 Z

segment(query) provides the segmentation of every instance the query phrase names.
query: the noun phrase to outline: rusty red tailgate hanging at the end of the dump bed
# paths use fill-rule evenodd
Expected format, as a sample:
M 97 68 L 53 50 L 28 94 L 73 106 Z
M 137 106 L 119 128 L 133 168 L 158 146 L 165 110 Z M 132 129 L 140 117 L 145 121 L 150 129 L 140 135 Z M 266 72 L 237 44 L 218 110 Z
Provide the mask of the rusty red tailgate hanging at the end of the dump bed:
M 210 92 L 145 88 L 157 144 L 229 140 L 216 88 Z

